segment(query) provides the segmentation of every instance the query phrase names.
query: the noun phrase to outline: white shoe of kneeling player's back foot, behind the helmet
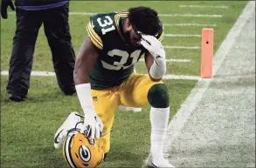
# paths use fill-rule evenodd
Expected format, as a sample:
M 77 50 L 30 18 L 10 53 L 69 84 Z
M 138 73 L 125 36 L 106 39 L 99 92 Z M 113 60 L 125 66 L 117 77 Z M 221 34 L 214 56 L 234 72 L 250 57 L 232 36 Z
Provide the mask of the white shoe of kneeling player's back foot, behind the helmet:
M 59 127 L 54 136 L 54 147 L 59 149 L 64 144 L 66 137 L 71 135 L 72 131 L 77 131 L 77 124 L 81 123 L 81 117 L 78 112 L 71 112 L 66 121 Z

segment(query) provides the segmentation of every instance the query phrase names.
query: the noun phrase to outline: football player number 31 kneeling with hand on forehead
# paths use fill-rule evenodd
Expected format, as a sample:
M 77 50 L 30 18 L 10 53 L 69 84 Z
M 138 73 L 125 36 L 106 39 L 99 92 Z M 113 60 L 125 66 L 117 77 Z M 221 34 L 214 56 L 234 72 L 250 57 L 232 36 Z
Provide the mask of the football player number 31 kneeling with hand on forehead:
M 145 167 L 174 167 L 163 158 L 163 140 L 170 116 L 169 91 L 161 80 L 166 72 L 163 24 L 156 10 L 135 7 L 90 17 L 80 47 L 74 82 L 84 111 L 82 132 L 110 149 L 110 131 L 119 105 L 151 106 L 150 152 Z M 144 55 L 149 72 L 134 72 Z M 60 129 L 61 130 L 61 129 Z M 101 135 L 104 135 L 101 137 Z M 56 137 L 57 136 L 57 137 Z M 55 147 L 63 143 L 56 132 Z

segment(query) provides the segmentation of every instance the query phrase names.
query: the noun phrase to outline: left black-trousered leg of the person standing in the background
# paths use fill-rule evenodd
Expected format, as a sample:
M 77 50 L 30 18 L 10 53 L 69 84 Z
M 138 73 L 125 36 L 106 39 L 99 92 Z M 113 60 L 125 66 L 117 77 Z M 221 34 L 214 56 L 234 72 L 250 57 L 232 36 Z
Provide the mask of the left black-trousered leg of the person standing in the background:
M 22 101 L 30 87 L 31 68 L 38 30 L 42 24 L 39 11 L 16 9 L 16 32 L 10 56 L 6 87 L 13 101 Z

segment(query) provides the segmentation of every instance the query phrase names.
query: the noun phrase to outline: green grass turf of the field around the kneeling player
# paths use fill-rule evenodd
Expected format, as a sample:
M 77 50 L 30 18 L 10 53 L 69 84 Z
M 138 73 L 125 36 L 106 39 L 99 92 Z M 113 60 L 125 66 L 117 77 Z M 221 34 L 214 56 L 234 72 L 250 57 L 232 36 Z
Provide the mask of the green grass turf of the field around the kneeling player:
M 218 8 L 180 8 L 179 5 L 226 5 Z M 163 24 L 216 24 L 214 50 L 224 40 L 246 2 L 73 2 L 71 12 L 103 12 L 127 10 L 128 7 L 147 5 L 160 14 L 209 14 L 222 17 L 161 17 Z M 89 16 L 70 15 L 69 21 L 73 46 L 78 52 L 86 33 Z M 1 19 L 1 71 L 8 71 L 15 32 L 15 15 Z M 43 28 L 43 27 L 42 27 Z M 201 34 L 200 26 L 165 26 L 165 34 Z M 200 46 L 200 37 L 165 37 L 163 45 Z M 190 59 L 189 63 L 168 63 L 167 74 L 198 76 L 200 49 L 166 49 L 167 57 Z M 146 73 L 143 63 L 136 70 Z M 53 71 L 52 57 L 44 30 L 38 35 L 34 54 L 33 71 Z M 59 90 L 55 77 L 31 77 L 28 99 L 13 103 L 5 91 L 8 77 L 1 76 L 1 167 L 67 167 L 62 151 L 53 147 L 53 136 L 70 111 L 80 111 L 76 96 L 65 97 Z M 180 108 L 183 100 L 195 86 L 195 80 L 164 80 L 170 89 L 171 117 Z M 112 147 L 107 162 L 100 167 L 141 167 L 149 154 L 149 108 L 142 112 L 117 111 L 112 132 Z

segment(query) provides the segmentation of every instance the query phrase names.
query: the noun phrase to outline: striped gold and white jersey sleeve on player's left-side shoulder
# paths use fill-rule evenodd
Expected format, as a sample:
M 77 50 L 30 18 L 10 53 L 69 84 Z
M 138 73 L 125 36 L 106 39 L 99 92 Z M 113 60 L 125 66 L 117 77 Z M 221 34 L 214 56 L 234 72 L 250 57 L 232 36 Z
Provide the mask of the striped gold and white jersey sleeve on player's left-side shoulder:
M 103 49 L 102 32 L 100 25 L 96 21 L 96 16 L 90 17 L 89 23 L 86 26 L 88 36 L 90 37 L 93 44 L 100 50 Z

